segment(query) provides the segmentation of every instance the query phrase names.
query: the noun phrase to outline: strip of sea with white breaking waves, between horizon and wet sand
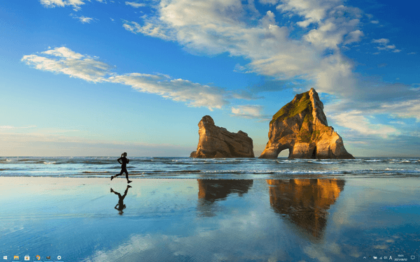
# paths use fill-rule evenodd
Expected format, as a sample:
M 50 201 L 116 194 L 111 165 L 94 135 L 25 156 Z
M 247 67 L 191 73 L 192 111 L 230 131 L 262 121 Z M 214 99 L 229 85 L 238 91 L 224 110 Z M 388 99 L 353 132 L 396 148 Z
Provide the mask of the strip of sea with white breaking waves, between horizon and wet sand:
M 110 177 L 118 157 L 0 157 L 0 176 Z M 129 157 L 132 178 L 293 179 L 419 177 L 419 158 L 358 159 L 191 159 Z

